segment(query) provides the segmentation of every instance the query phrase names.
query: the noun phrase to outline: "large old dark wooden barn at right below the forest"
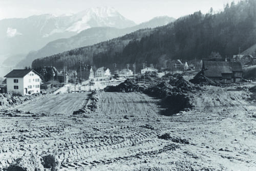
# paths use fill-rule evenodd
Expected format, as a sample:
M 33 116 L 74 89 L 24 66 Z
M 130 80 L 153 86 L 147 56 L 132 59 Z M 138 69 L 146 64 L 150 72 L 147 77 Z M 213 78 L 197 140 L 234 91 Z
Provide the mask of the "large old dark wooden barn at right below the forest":
M 232 83 L 242 80 L 242 65 L 239 62 L 203 61 L 203 74 L 220 83 Z

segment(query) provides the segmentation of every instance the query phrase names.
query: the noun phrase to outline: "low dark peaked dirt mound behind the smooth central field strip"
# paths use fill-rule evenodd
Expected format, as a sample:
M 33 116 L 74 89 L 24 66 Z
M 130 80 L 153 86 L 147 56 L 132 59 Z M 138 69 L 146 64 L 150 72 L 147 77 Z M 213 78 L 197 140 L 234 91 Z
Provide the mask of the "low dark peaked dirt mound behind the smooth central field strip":
M 127 79 L 117 86 L 107 86 L 104 88 L 104 91 L 106 92 L 142 92 L 143 90 L 143 87 L 140 87 L 131 79 Z

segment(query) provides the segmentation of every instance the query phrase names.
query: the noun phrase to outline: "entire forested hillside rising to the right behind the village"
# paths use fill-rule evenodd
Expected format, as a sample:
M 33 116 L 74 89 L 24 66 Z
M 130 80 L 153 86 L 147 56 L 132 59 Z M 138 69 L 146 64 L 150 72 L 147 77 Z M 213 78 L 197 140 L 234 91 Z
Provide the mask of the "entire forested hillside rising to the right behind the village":
M 32 66 L 49 65 L 52 61 L 52 65 L 66 62 L 73 68 L 78 64 L 79 57 L 97 67 L 113 63 L 124 66 L 126 63 L 145 61 L 161 65 L 159 59 L 162 58 L 166 61 L 202 59 L 211 52 L 231 57 L 238 54 L 239 47 L 245 50 L 256 43 L 256 0 L 227 4 L 217 14 L 213 14 L 212 9 L 207 14 L 195 12 L 150 32 L 130 34 L 130 42 L 126 38 L 127 35 L 35 60 Z

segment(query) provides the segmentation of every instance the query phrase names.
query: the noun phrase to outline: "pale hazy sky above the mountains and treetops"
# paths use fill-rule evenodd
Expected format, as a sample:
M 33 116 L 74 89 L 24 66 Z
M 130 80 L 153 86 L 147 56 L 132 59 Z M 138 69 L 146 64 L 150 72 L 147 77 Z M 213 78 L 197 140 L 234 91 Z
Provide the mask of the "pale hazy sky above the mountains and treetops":
M 77 13 L 90 7 L 108 6 L 140 23 L 156 16 L 179 18 L 195 11 L 223 10 L 232 0 L 0 0 L 0 19 L 38 14 Z M 234 2 L 238 2 L 234 0 Z

